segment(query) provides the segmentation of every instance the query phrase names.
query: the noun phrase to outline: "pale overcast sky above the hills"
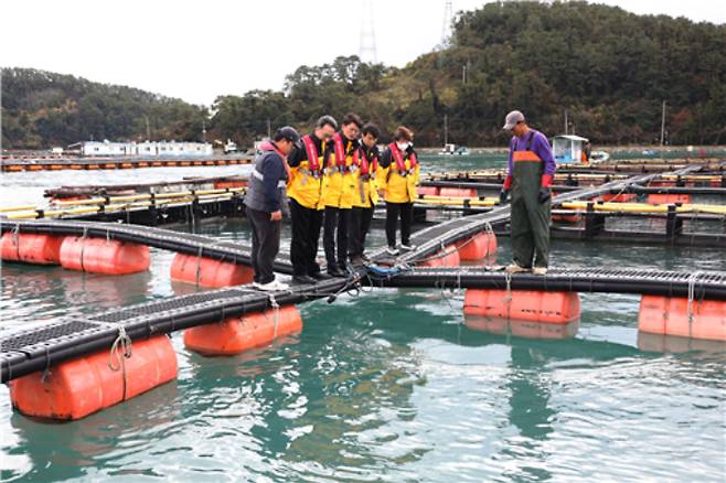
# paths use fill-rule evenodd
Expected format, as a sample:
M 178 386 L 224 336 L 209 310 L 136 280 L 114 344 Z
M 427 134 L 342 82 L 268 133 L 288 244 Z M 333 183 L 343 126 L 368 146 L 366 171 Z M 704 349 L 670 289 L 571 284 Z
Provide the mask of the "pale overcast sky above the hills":
M 367 0 L 377 60 L 403 66 L 441 37 L 446 0 Z M 453 11 L 484 0 L 452 0 Z M 600 0 L 636 13 L 726 23 L 723 0 Z M 357 54 L 365 1 L 10 0 L 0 66 L 34 67 L 211 104 L 279 89 L 299 65 Z

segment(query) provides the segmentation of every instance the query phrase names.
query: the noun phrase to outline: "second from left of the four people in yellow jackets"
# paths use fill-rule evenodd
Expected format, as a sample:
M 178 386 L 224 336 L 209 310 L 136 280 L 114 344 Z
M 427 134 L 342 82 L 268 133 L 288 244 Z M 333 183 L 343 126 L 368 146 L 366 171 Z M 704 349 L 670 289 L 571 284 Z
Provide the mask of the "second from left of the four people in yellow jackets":
M 357 136 L 363 122 L 348 114 L 340 132 L 333 136 L 333 153 L 325 163 L 320 205 L 324 210 L 322 246 L 325 250 L 328 275 L 348 276 L 348 232 L 355 191 L 353 154 L 359 148 Z M 338 246 L 337 246 L 338 245 Z

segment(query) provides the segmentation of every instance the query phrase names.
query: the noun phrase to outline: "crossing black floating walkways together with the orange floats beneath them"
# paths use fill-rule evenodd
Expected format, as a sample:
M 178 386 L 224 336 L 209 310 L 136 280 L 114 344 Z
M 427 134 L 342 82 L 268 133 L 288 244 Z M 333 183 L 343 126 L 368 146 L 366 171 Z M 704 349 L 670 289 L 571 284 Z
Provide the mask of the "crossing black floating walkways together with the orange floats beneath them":
M 700 169 L 691 165 L 672 174 L 686 176 Z M 641 174 L 558 194 L 554 202 L 588 200 L 661 174 Z M 94 268 L 104 272 L 108 260 L 140 259 L 148 267 L 148 247 L 153 246 L 178 253 L 172 279 L 177 275 L 197 285 L 233 286 L 3 334 L 0 382 L 9 383 L 13 407 L 20 412 L 82 418 L 175 378 L 177 355 L 167 334 L 183 330 L 184 345 L 203 355 L 237 354 L 299 332 L 302 321 L 293 304 L 321 298 L 333 301 L 363 285 L 461 288 L 466 290 L 465 316 L 479 318 L 472 326 L 510 331 L 511 322 L 517 320 L 524 325 L 512 333 L 544 337 L 574 334 L 580 291 L 638 293 L 642 332 L 726 341 L 726 273 L 554 269 L 535 277 L 458 267 L 460 259 L 493 255 L 497 240 L 492 226 L 509 218 L 510 207 L 498 206 L 489 213 L 447 221 L 416 232 L 412 238 L 416 249 L 396 260 L 386 259 L 383 248 L 372 254 L 382 265 L 392 264 L 391 268 L 359 268 L 346 279 L 293 286 L 274 293 L 244 285 L 250 281 L 249 269 L 229 276 L 231 269 L 249 262 L 247 248 L 235 243 L 145 226 L 0 221 L 3 259 L 56 262 L 53 257 L 58 257 L 64 267 L 68 264 L 85 270 L 87 264 L 95 264 Z M 119 256 L 125 249 L 132 249 L 131 256 Z M 84 253 L 93 257 L 84 261 Z M 287 258 L 285 254 L 280 257 Z M 289 273 L 291 267 L 287 259 L 279 259 L 276 270 Z M 212 272 L 212 283 L 201 283 L 206 281 L 205 272 Z

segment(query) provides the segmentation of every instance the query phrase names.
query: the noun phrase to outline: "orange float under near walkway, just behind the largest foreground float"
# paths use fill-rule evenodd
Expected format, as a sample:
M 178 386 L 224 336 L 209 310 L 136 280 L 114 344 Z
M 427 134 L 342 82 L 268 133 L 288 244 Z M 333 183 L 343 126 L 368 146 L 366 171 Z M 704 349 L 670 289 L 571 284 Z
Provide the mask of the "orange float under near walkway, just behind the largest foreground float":
M 295 305 L 287 305 L 188 329 L 184 345 L 203 355 L 234 355 L 301 330 L 300 312 Z

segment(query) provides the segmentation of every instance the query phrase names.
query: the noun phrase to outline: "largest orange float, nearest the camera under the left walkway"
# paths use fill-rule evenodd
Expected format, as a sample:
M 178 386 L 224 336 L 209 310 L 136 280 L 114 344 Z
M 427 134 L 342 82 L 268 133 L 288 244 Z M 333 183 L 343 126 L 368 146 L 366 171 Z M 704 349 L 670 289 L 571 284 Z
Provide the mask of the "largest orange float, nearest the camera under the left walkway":
M 119 353 L 110 359 L 116 371 L 109 351 L 102 351 L 51 366 L 45 377 L 38 372 L 11 380 L 12 406 L 28 416 L 81 419 L 177 378 L 167 335 L 134 342 L 129 358 Z

